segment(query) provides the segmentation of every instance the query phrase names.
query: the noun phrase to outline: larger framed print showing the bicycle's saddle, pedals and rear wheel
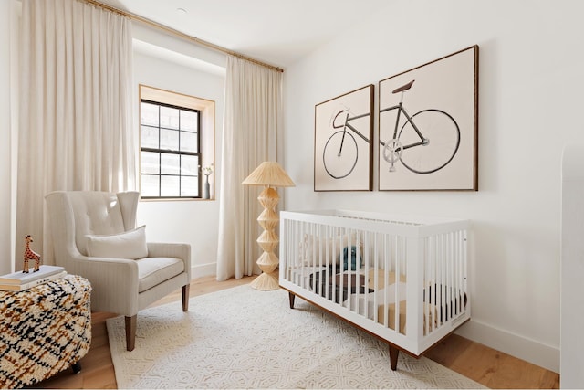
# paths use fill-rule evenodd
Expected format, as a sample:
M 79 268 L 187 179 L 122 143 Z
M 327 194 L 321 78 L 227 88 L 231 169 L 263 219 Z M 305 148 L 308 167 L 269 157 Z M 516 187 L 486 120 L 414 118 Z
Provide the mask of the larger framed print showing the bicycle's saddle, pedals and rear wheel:
M 478 190 L 478 46 L 379 82 L 379 189 Z

